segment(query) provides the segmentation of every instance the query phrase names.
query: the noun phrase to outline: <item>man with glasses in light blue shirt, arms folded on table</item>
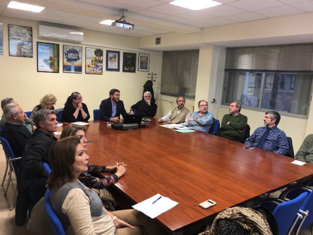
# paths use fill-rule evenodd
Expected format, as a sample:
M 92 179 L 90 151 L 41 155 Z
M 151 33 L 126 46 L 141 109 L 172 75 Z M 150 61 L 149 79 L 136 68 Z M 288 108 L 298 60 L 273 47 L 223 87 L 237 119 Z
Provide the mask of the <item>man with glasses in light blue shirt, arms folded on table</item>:
M 199 111 L 193 113 L 191 117 L 188 118 L 189 127 L 208 133 L 213 124 L 213 114 L 207 111 L 208 105 L 205 100 L 200 100 L 198 102 Z

